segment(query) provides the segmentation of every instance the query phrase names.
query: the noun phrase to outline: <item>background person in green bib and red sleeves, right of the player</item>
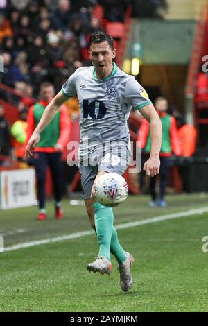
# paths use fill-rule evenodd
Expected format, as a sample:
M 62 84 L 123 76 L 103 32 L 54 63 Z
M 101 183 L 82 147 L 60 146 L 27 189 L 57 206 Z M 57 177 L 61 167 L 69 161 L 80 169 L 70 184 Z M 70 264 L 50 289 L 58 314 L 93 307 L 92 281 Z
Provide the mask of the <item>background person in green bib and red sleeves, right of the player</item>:
M 162 122 L 162 146 L 160 151 L 160 187 L 159 187 L 159 203 L 157 202 L 157 196 L 155 191 L 156 177 L 150 179 L 150 207 L 156 207 L 158 204 L 161 207 L 166 207 L 164 200 L 164 194 L 166 189 L 166 176 L 168 173 L 169 157 L 171 153 L 180 155 L 180 143 L 177 137 L 177 126 L 174 117 L 167 114 L 168 101 L 166 98 L 158 97 L 155 100 L 155 108 L 159 114 Z M 149 123 L 144 119 L 139 129 L 139 135 L 137 141 L 141 142 L 141 148 L 144 153 L 148 155 L 150 153 L 150 132 Z

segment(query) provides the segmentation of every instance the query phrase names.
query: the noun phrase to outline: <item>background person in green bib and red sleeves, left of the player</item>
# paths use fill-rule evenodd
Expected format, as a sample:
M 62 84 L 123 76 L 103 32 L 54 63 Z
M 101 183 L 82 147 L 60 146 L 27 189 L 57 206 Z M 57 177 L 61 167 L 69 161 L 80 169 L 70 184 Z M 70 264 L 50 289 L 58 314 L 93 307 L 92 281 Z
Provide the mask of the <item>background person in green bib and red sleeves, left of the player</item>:
M 40 86 L 40 103 L 33 105 L 28 112 L 28 139 L 31 137 L 35 126 L 40 121 L 42 114 L 52 100 L 55 89 L 51 83 L 43 83 Z M 40 135 L 40 142 L 35 148 L 33 159 L 37 176 L 37 198 L 39 203 L 39 214 L 37 221 L 46 219 L 45 209 L 45 182 L 46 168 L 50 167 L 53 180 L 53 191 L 55 196 L 55 218 L 62 218 L 61 208 L 62 197 L 62 165 L 61 154 L 64 146 L 69 141 L 69 114 L 67 108 L 62 105 L 53 121 L 45 128 Z

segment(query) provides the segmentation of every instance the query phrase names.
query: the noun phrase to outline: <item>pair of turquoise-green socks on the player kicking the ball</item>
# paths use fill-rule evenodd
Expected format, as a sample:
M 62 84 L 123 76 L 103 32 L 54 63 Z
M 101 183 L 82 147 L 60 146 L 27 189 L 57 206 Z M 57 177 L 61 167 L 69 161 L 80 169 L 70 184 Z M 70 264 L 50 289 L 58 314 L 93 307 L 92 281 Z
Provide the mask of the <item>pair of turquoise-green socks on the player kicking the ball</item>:
M 110 252 L 116 257 L 119 264 L 126 259 L 125 251 L 121 247 L 116 229 L 114 228 L 114 214 L 112 208 L 94 203 L 94 221 L 96 234 L 100 245 L 99 257 L 110 260 Z

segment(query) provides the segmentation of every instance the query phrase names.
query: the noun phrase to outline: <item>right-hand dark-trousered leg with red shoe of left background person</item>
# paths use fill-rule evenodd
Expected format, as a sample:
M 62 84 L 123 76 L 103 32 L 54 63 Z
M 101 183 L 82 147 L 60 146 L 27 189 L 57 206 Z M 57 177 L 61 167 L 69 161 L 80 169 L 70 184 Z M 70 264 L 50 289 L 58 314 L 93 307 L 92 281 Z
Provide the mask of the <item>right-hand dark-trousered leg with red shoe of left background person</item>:
M 64 216 L 61 200 L 62 200 L 62 162 L 61 152 L 47 153 L 48 162 L 51 170 L 51 178 L 53 182 L 53 193 L 55 198 L 55 218 L 60 219 Z

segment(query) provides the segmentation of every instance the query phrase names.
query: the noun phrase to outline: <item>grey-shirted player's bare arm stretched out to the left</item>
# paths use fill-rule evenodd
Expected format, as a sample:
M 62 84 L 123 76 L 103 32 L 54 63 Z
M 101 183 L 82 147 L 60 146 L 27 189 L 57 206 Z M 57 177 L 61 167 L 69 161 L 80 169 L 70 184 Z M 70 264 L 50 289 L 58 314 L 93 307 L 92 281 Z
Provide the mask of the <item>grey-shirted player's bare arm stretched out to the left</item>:
M 53 120 L 53 117 L 60 109 L 60 106 L 67 101 L 67 97 L 62 94 L 60 91 L 53 100 L 49 103 L 49 105 L 46 106 L 46 109 L 44 110 L 44 113 L 42 114 L 42 117 L 37 124 L 37 127 L 33 131 L 33 135 L 31 135 L 31 138 L 28 141 L 28 144 L 26 146 L 26 152 L 25 157 L 29 158 L 32 154 L 33 149 L 37 145 L 37 143 L 40 141 L 40 132 L 44 130 L 44 128 Z

